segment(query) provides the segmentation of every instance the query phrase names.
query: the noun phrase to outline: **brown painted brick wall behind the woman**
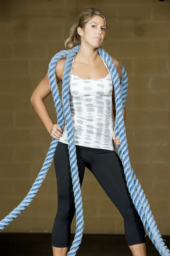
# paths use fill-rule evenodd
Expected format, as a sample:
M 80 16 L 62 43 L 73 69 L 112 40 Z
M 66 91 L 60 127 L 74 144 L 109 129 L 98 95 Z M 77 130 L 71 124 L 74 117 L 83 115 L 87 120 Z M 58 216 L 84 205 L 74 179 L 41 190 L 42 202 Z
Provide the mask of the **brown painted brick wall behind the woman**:
M 170 1 L 6 0 L 0 7 L 0 219 L 27 195 L 52 138 L 30 97 L 84 7 L 103 12 L 103 48 L 127 70 L 126 131 L 131 165 L 161 234 L 170 235 Z M 61 85 L 60 85 L 61 88 Z M 53 122 L 55 107 L 45 99 Z M 123 218 L 86 169 L 84 233 L 124 233 Z M 51 232 L 57 211 L 54 166 L 35 199 L 3 232 Z M 72 232 L 75 231 L 75 218 Z

